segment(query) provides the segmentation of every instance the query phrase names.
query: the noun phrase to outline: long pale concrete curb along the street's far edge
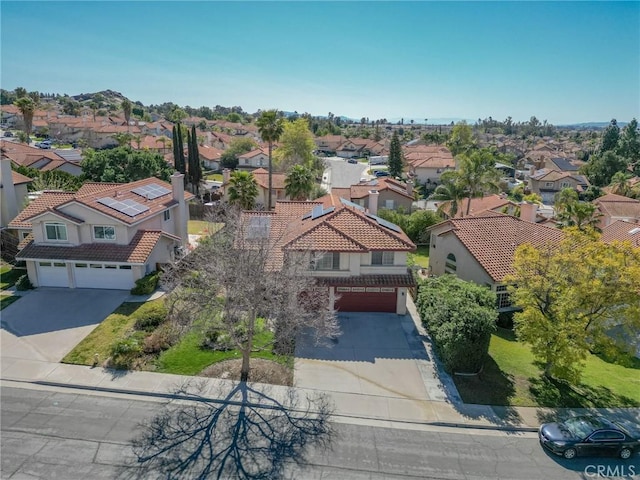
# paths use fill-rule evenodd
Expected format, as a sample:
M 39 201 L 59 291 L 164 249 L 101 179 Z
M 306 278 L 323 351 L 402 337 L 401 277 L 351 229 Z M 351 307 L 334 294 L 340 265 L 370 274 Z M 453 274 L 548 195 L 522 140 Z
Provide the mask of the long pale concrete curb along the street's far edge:
M 131 389 L 124 389 L 124 388 L 100 387 L 100 386 L 79 385 L 79 384 L 72 384 L 72 383 L 61 383 L 61 382 L 47 382 L 44 380 L 36 380 L 36 381 L 12 380 L 8 378 L 3 378 L 0 380 L 7 381 L 7 382 L 14 382 L 14 383 L 39 385 L 43 387 L 67 388 L 67 389 L 94 391 L 94 392 L 102 392 L 102 393 L 115 393 L 115 394 L 121 394 L 121 395 L 135 395 L 135 396 L 141 396 L 141 397 L 152 397 L 152 398 L 169 399 L 169 400 L 183 400 L 183 401 L 201 402 L 201 403 L 207 403 L 207 404 L 233 405 L 233 406 L 248 405 L 254 408 L 263 408 L 265 410 L 277 409 L 277 407 L 273 405 L 265 405 L 265 404 L 259 404 L 259 403 L 243 403 L 239 401 L 206 398 L 198 395 L 189 395 L 189 394 L 148 392 L 148 391 L 131 390 Z M 301 409 L 292 409 L 291 411 L 307 412 L 306 410 L 301 410 Z M 316 412 L 313 412 L 313 413 L 316 413 Z M 332 413 L 331 416 L 337 417 L 337 418 L 353 418 L 353 419 L 370 420 L 370 421 L 376 421 L 376 422 L 385 422 L 385 423 L 391 423 L 396 425 L 423 425 L 423 426 L 430 426 L 430 427 L 459 428 L 459 429 L 465 429 L 465 430 L 485 430 L 485 431 L 488 430 L 488 431 L 513 432 L 513 433 L 535 433 L 538 431 L 538 428 L 529 427 L 529 426 L 519 427 L 519 426 L 506 426 L 506 425 L 475 425 L 475 424 L 466 424 L 466 423 L 459 423 L 459 422 L 442 422 L 442 421 L 420 422 L 420 421 L 410 421 L 410 420 L 393 420 L 393 419 L 385 419 L 385 418 L 369 417 L 369 416 L 361 416 L 361 415 L 350 415 L 350 414 L 342 414 L 342 413 Z

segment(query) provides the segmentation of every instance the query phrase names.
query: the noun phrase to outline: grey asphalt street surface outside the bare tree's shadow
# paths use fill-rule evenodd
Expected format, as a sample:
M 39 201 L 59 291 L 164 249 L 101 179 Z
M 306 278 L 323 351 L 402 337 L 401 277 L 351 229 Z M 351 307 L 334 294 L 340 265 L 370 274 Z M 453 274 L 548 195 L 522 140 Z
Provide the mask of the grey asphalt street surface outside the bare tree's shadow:
M 139 436 L 141 422 L 164 411 L 162 402 L 33 388 L 4 384 L 1 391 L 3 479 L 136 477 L 139 467 L 131 440 Z M 184 422 L 183 419 L 180 424 Z M 640 478 L 634 476 L 640 472 L 638 455 L 628 461 L 568 461 L 544 452 L 531 433 L 404 430 L 342 423 L 331 426 L 328 445 L 315 445 L 312 440 L 302 442 L 304 449 L 297 451 L 296 458 L 286 458 L 284 451 L 284 478 Z M 226 426 L 217 428 L 224 430 Z M 214 436 L 216 432 L 209 434 Z M 197 448 L 190 448 L 189 455 L 193 456 L 194 451 Z M 252 455 L 251 461 L 257 461 L 255 452 Z M 298 465 L 294 460 L 302 463 Z M 598 467 L 603 474 L 616 475 L 598 475 Z M 210 476 L 216 477 L 213 473 Z

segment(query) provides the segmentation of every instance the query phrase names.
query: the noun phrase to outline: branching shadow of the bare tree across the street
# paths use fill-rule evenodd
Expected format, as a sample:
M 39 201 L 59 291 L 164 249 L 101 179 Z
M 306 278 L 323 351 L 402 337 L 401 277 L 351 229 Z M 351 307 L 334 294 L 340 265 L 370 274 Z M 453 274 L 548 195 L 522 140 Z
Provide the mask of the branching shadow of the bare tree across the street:
M 203 388 L 183 387 L 141 425 L 132 442 L 134 478 L 278 479 L 285 466 L 305 465 L 309 447 L 330 445 L 332 407 L 325 395 L 244 382 L 223 388 L 205 398 Z M 132 469 L 123 475 L 132 478 Z

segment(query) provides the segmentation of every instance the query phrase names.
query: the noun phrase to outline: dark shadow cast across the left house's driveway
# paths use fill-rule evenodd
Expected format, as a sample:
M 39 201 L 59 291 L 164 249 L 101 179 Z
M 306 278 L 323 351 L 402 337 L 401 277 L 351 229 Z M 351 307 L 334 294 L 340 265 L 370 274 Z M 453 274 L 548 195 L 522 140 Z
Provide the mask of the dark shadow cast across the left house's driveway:
M 38 288 L 2 310 L 0 323 L 17 337 L 97 325 L 128 296 L 126 290 Z

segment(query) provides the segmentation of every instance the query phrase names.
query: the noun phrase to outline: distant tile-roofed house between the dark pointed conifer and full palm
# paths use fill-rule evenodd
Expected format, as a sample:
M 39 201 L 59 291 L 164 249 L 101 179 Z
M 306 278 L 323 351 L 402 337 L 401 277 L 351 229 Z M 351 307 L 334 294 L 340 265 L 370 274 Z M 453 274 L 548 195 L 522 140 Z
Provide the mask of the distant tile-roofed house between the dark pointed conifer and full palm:
M 447 147 L 441 145 L 405 146 L 406 170 L 414 182 L 439 184 L 447 170 L 455 170 L 456 162 Z

